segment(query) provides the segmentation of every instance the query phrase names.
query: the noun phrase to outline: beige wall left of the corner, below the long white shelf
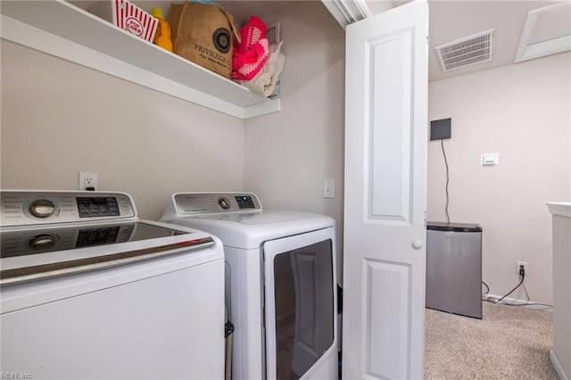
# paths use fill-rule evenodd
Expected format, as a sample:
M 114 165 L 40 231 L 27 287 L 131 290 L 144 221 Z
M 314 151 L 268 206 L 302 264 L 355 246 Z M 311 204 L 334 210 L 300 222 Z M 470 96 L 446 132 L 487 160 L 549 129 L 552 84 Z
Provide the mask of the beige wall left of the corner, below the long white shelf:
M 244 123 L 2 40 L 2 188 L 133 195 L 159 219 L 177 191 L 244 187 Z

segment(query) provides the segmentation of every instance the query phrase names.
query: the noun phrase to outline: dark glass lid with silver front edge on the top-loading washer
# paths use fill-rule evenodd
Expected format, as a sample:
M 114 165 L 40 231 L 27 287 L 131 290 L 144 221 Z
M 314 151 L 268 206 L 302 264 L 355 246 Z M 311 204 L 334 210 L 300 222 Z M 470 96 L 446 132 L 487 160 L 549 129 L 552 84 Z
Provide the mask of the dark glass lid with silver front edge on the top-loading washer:
M 159 222 L 8 228 L 1 234 L 0 285 L 111 268 L 206 249 L 215 238 Z

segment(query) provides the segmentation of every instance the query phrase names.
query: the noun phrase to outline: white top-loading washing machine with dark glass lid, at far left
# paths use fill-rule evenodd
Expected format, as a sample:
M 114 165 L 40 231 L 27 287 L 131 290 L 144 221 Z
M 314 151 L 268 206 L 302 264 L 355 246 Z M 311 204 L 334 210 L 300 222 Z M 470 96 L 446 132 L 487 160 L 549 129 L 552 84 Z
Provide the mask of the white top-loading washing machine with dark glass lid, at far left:
M 2 374 L 224 377 L 224 252 L 124 193 L 1 193 Z

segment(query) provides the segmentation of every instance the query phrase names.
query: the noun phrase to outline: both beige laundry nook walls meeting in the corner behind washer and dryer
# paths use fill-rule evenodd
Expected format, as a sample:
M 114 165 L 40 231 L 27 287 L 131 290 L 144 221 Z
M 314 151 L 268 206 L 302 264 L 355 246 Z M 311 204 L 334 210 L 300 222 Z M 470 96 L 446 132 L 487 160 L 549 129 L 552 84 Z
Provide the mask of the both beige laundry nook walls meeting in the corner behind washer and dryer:
M 247 190 L 268 209 L 332 216 L 341 239 L 343 29 L 319 2 L 274 17 L 282 112 L 245 122 L 2 40 L 0 185 L 77 189 L 80 170 L 96 172 L 98 189 L 132 194 L 145 219 L 177 191 Z

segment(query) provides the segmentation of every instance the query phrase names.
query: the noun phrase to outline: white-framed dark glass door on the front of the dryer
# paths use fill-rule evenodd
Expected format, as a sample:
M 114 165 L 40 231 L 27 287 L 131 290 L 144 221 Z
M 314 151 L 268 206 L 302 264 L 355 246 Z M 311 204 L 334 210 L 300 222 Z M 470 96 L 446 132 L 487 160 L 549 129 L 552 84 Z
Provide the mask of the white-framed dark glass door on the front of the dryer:
M 263 244 L 268 378 L 309 377 L 336 355 L 334 236 L 326 228 Z

